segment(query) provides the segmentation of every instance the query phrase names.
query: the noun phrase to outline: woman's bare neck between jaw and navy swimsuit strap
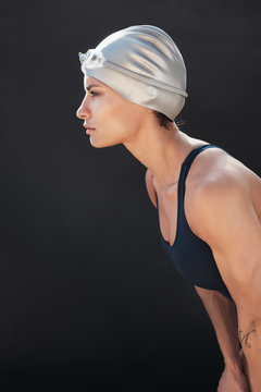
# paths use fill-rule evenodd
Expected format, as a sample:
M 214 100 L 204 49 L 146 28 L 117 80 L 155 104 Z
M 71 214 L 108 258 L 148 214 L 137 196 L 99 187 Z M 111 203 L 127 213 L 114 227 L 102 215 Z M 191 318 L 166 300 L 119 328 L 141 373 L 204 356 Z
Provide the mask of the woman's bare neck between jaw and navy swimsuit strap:
M 123 144 L 151 171 L 158 189 L 164 191 L 178 181 L 184 159 L 200 142 L 186 135 L 175 123 L 166 130 L 150 122 Z

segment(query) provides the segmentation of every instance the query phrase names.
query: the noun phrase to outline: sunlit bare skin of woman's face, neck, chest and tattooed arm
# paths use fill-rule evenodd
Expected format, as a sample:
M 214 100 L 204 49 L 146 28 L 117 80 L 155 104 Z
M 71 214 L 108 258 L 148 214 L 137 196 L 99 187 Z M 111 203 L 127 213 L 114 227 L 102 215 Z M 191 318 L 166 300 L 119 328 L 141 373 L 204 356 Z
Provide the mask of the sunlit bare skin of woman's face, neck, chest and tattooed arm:
M 98 87 L 88 91 L 91 84 Z M 148 193 L 156 207 L 158 195 L 161 232 L 172 245 L 182 163 L 195 147 L 208 142 L 186 135 L 175 122 L 170 130 L 160 126 L 152 110 L 127 101 L 94 77 L 86 76 L 84 86 L 77 117 L 84 126 L 95 127 L 90 144 L 102 148 L 122 143 L 147 168 Z M 187 222 L 211 247 L 238 314 L 243 351 L 234 358 L 235 366 L 225 367 L 219 392 L 261 391 L 260 195 L 261 179 L 219 148 L 198 155 L 186 180 Z

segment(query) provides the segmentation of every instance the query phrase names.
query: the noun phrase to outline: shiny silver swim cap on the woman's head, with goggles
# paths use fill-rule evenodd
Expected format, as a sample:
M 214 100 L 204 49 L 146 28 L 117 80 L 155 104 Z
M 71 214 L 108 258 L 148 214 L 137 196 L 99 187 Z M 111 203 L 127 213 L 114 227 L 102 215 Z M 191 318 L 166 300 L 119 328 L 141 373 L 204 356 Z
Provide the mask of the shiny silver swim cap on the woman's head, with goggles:
M 137 25 L 79 52 L 82 71 L 125 99 L 157 110 L 172 121 L 185 103 L 186 68 L 182 53 L 161 28 Z

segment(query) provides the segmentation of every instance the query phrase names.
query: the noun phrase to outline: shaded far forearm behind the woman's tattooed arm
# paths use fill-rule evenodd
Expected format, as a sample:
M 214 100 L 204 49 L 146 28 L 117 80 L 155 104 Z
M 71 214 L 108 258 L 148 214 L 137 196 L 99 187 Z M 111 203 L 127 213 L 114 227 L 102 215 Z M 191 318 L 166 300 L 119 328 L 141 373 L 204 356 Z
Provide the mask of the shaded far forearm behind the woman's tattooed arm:
M 234 304 L 219 292 L 195 286 L 212 321 L 225 365 L 240 370 L 239 340 Z

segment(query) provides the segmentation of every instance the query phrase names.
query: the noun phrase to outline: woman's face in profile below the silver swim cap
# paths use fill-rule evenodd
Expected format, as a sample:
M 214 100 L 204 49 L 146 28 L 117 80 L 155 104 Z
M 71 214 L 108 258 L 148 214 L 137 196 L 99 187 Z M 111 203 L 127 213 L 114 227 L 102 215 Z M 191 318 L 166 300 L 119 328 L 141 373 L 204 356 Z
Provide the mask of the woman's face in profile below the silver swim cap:
M 85 76 L 84 85 L 86 95 L 76 115 L 84 120 L 91 145 L 107 147 L 135 138 L 151 110 L 129 102 L 95 77 Z

